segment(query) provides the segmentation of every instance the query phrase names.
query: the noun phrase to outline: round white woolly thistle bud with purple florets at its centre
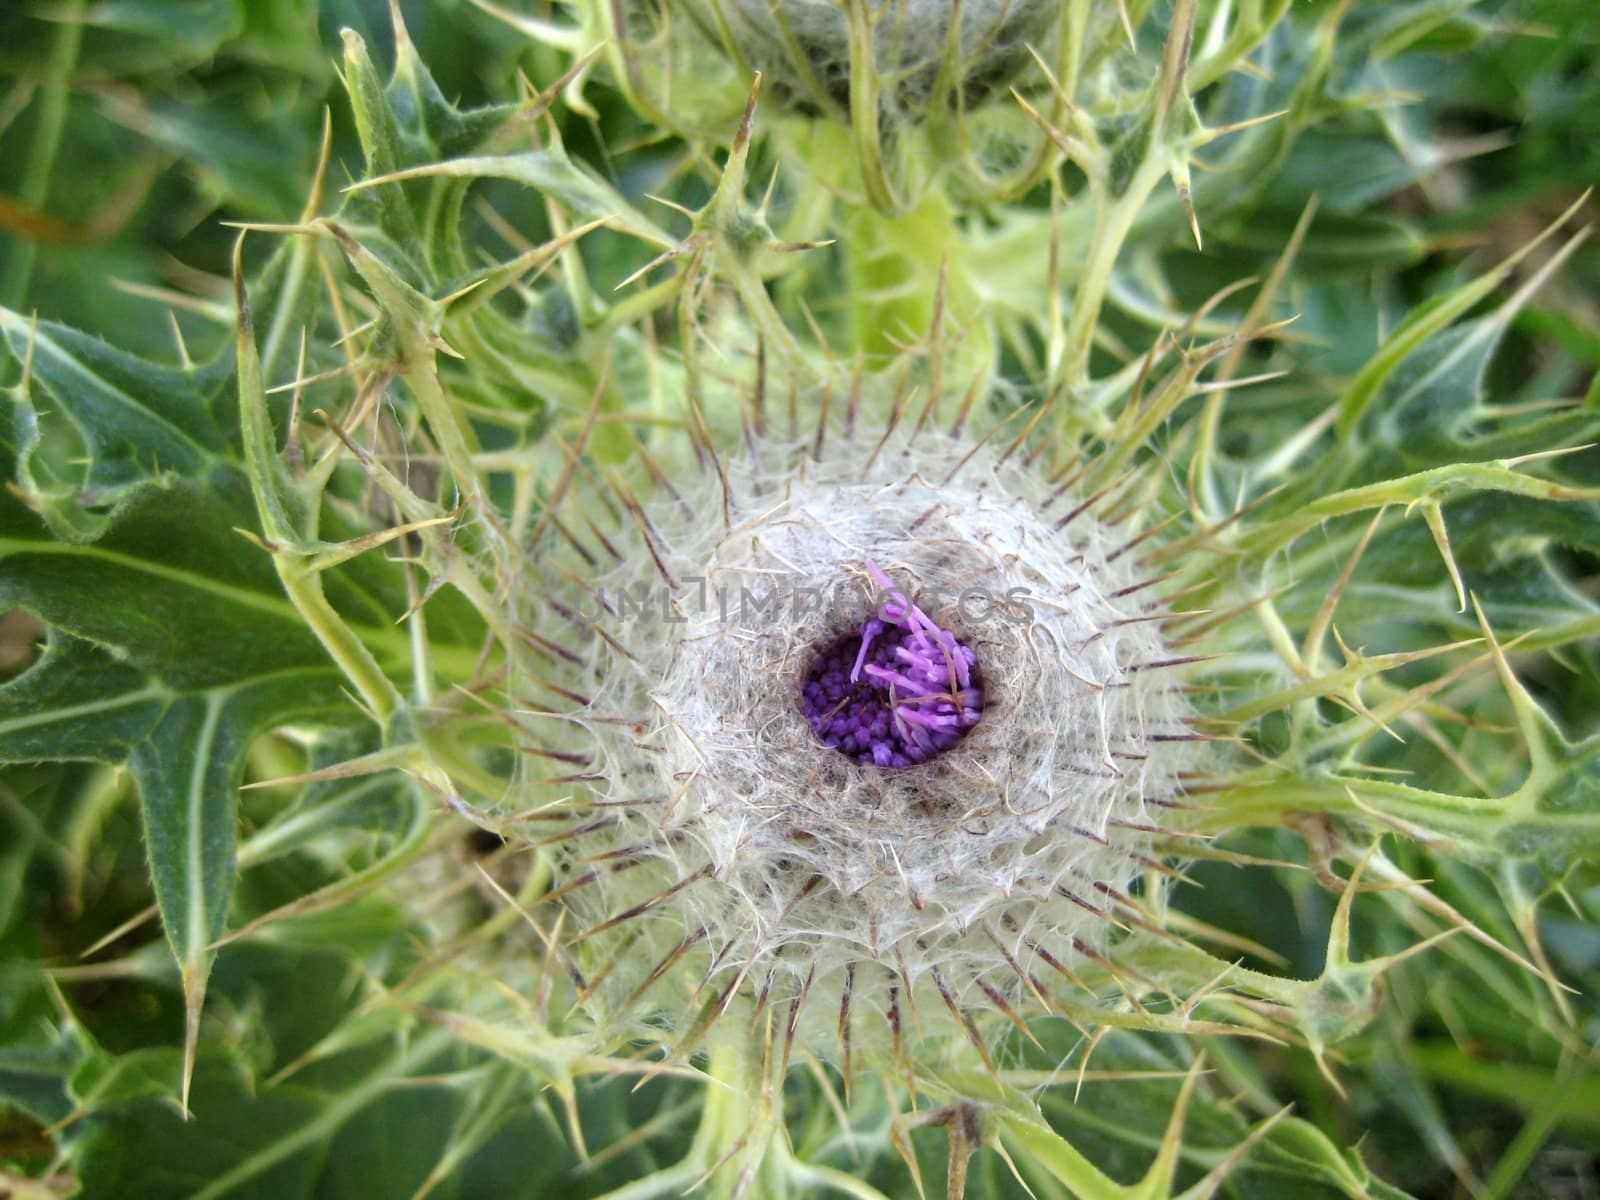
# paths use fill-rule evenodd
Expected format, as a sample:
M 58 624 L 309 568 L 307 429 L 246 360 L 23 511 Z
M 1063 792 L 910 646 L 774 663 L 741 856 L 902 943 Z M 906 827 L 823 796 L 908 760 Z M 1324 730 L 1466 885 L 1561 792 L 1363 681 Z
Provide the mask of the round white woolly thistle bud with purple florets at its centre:
M 1070 978 L 1189 762 L 1131 534 L 962 435 L 704 464 L 584 498 L 616 523 L 565 531 L 586 589 L 533 635 L 586 734 L 549 754 L 592 798 L 536 811 L 570 821 L 590 995 L 669 1022 L 819 1000 L 848 1054 L 853 1005 L 898 1037 L 902 1000 L 970 1022 Z

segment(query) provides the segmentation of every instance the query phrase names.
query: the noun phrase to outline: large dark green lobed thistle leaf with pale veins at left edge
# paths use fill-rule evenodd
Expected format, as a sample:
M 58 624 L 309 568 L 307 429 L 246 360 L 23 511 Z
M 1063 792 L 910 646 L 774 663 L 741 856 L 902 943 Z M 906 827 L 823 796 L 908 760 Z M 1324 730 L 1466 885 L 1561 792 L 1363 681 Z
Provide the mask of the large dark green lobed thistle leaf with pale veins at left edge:
M 8 339 L 19 331 L 8 325 Z M 155 368 L 93 339 L 53 331 L 43 360 L 40 347 L 32 336 L 24 362 L 43 363 L 51 398 L 93 456 L 77 488 L 30 496 L 56 506 L 50 525 L 72 541 L 51 538 L 16 494 L 0 496 L 0 608 L 29 608 L 51 629 L 43 659 L 0 690 L 0 760 L 126 763 L 192 1053 L 234 888 L 245 754 L 286 720 L 349 717 L 350 707 L 270 563 L 234 531 L 253 523 L 248 486 L 226 461 L 205 397 L 162 395 Z M 18 411 L 26 456 L 26 397 Z M 150 450 L 168 462 L 142 459 Z M 74 528 L 59 510 L 96 498 L 85 491 L 93 480 L 117 482 L 115 504 Z

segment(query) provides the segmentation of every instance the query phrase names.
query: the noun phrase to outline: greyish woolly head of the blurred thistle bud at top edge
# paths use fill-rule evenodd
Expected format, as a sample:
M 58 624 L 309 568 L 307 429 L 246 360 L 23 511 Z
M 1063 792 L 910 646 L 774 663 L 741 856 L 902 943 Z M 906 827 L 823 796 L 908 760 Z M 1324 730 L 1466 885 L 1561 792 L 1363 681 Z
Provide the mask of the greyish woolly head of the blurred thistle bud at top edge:
M 739 53 L 781 94 L 805 101 L 821 91 L 850 104 L 850 26 L 842 0 L 699 0 L 714 27 L 733 34 Z M 958 59 L 944 80 L 968 102 L 1008 80 L 1059 18 L 1051 0 L 878 0 L 867 5 L 883 115 L 917 112 L 939 82 L 958 13 Z

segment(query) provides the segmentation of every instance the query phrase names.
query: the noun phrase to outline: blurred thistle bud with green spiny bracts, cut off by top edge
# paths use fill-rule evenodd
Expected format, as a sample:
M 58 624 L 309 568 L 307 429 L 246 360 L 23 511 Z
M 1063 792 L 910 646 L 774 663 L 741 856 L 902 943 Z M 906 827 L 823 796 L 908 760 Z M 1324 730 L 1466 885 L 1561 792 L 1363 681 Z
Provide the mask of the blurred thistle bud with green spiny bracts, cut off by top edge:
M 688 136 L 715 138 L 758 77 L 766 102 L 811 122 L 786 154 L 891 214 L 914 210 L 941 176 L 984 195 L 1026 190 L 1054 149 L 1010 91 L 1051 110 L 1066 50 L 1120 38 L 1115 6 L 1090 6 L 1069 32 L 1053 0 L 683 0 L 670 10 L 667 19 L 622 0 L 606 18 L 635 94 L 670 110 Z M 842 154 L 846 138 L 853 154 Z

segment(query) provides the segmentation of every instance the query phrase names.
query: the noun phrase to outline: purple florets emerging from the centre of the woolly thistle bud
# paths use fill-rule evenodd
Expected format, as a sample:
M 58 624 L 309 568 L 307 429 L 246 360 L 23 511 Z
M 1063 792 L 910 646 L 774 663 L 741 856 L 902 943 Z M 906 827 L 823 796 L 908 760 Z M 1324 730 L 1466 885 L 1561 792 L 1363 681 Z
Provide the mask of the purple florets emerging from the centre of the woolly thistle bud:
M 982 715 L 978 654 L 894 587 L 867 573 L 886 598 L 859 634 L 830 643 L 806 672 L 800 710 L 824 746 L 878 768 L 928 762 Z

